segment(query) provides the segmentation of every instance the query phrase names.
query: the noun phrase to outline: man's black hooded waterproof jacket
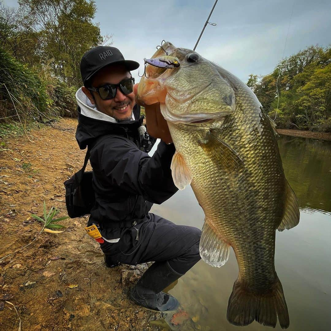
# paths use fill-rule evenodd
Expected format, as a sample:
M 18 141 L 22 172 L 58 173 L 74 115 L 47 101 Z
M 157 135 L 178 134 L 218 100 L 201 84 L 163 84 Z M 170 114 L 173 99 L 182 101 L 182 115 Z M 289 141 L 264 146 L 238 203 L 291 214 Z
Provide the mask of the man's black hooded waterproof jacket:
M 112 123 L 89 118 L 78 110 L 76 140 L 80 149 L 90 149 L 96 203 L 90 221 L 106 228 L 128 226 L 146 217 L 153 203 L 161 204 L 178 189 L 170 170 L 173 144 L 160 142 L 150 157 L 141 147 L 138 120 Z

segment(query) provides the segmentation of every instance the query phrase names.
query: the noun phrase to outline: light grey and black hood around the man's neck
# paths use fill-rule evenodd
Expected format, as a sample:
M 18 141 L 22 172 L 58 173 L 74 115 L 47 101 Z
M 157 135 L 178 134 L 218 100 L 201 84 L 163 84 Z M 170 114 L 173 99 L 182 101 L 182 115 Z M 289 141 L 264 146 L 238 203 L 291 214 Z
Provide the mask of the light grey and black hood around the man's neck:
M 143 126 L 144 117 L 139 118 L 140 106 L 138 105 L 133 107 L 132 120 L 117 122 L 115 118 L 99 112 L 81 88 L 76 92 L 76 100 L 78 104 L 76 140 L 80 149 L 85 149 L 95 138 L 105 134 L 118 134 L 129 138 L 146 132 Z

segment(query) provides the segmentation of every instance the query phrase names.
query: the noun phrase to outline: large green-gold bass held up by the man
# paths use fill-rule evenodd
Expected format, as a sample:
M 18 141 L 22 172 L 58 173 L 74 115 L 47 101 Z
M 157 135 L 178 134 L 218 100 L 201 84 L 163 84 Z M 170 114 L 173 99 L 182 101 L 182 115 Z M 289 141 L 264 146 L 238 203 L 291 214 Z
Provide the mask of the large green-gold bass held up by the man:
M 166 42 L 145 63 L 137 98 L 160 102 L 176 147 L 174 183 L 179 189 L 191 184 L 205 212 L 201 257 L 221 266 L 230 247 L 236 254 L 228 321 L 275 327 L 278 316 L 287 328 L 275 231 L 296 226 L 300 214 L 270 119 L 240 79 L 192 50 Z

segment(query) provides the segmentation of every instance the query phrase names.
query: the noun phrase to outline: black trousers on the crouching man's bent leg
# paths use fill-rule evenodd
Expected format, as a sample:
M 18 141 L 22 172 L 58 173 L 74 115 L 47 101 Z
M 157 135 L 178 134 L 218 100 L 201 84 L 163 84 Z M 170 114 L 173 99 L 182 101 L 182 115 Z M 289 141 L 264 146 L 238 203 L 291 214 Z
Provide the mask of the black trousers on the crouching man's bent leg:
M 139 229 L 138 240 L 136 240 Z M 201 230 L 193 226 L 176 225 L 149 213 L 142 223 L 127 228 L 118 243 L 100 244 L 102 251 L 114 262 L 136 265 L 150 261 L 168 261 L 173 270 L 184 274 L 201 257 Z M 103 236 L 104 231 L 101 232 Z M 105 237 L 107 238 L 107 237 Z

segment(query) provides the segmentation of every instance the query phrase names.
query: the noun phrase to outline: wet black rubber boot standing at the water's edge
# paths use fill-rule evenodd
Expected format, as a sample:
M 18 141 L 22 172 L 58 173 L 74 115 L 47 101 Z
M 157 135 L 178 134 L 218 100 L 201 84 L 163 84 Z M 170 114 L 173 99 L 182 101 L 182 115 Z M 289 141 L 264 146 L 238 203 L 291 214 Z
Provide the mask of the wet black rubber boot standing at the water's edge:
M 167 286 L 181 277 L 167 261 L 154 262 L 130 291 L 130 298 L 148 309 L 166 311 L 178 307 L 172 295 L 162 292 Z

